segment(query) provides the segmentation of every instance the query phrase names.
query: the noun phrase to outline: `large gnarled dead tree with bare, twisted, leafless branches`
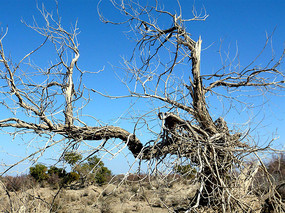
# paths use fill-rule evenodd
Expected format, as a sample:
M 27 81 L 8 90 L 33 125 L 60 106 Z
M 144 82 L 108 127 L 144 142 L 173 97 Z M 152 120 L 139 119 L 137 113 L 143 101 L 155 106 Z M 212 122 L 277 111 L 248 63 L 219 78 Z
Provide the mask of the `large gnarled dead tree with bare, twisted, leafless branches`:
M 163 10 L 157 2 L 147 6 L 124 0 L 111 3 L 127 18 L 124 23 L 130 25 L 137 38 L 132 59 L 125 61 L 127 75 L 136 86 L 132 88 L 127 83 L 130 81 L 122 80 L 129 89 L 129 94 L 124 97 L 160 104 L 152 110 L 157 115 L 156 119 L 161 120 L 162 128 L 157 137 L 143 143 L 135 130 L 130 132 L 118 126 L 100 123 L 88 126 L 84 123 L 77 112 L 83 108 L 79 103 L 89 101 L 84 96 L 89 91 L 82 82 L 85 72 L 77 66 L 80 56 L 78 28 L 75 25 L 72 31 L 65 30 L 60 19 L 55 19 L 44 8 L 41 13 L 46 25 L 40 27 L 34 23 L 28 26 L 43 35 L 45 40 L 19 62 L 7 57 L 3 45 L 7 31 L 1 35 L 1 106 L 14 115 L 0 121 L 1 129 L 12 127 L 15 128 L 14 134 L 32 131 L 48 137 L 50 144 L 42 150 L 61 142 L 62 139 L 54 140 L 57 135 L 69 140 L 68 146 L 96 140 L 103 141 L 101 148 L 106 141 L 115 138 L 123 141 L 137 159 L 147 161 L 171 155 L 187 158 L 198 168 L 196 181 L 200 183 L 195 198 L 187 207 L 189 211 L 201 205 L 218 206 L 224 212 L 233 209 L 234 205 L 243 210 L 250 209 L 250 205 L 244 203 L 240 194 L 233 190 L 239 187 L 233 177 L 237 168 L 241 173 L 244 171 L 243 156 L 258 151 L 258 148 L 244 143 L 242 134 L 231 130 L 223 118 L 213 119 L 206 96 L 218 94 L 215 91 L 217 88 L 226 89 L 222 94 L 225 97 L 227 89 L 284 89 L 284 73 L 278 69 L 284 52 L 277 60 L 270 59 L 264 67 L 254 66 L 253 61 L 234 71 L 222 69 L 214 74 L 202 75 L 202 39 L 193 39 L 186 30 L 186 24 L 205 20 L 206 14 L 200 16 L 194 11 L 192 19 L 183 19 L 181 12 L 173 14 Z M 167 26 L 160 25 L 161 17 L 168 20 Z M 102 15 L 101 18 L 106 23 L 115 23 Z M 29 58 L 47 43 L 54 46 L 57 61 L 43 69 Z M 163 57 L 167 58 L 166 62 Z M 135 59 L 139 63 L 133 63 Z M 186 67 L 183 77 L 179 73 L 182 65 Z M 27 66 L 31 72 L 24 71 Z M 92 91 L 100 93 L 96 88 Z M 254 172 L 255 169 L 250 174 Z M 284 208 L 283 204 L 278 205 Z

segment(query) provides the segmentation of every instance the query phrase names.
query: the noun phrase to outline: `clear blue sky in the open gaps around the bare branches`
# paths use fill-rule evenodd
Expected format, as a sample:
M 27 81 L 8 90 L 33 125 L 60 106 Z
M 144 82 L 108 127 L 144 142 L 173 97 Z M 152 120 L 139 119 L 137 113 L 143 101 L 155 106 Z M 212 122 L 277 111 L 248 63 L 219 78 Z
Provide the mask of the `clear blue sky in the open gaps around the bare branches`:
M 55 9 L 52 0 L 38 1 L 38 4 L 41 5 L 42 2 L 48 10 Z M 166 9 L 172 11 L 177 9 L 175 0 L 161 2 L 163 2 Z M 125 94 L 125 90 L 122 89 L 122 85 L 114 74 L 114 71 L 120 71 L 114 70 L 110 64 L 119 65 L 121 56 L 130 56 L 134 44 L 123 34 L 123 31 L 127 30 L 126 27 L 100 22 L 97 14 L 97 3 L 98 1 L 95 0 L 59 1 L 60 15 L 66 28 L 69 28 L 71 24 L 78 20 L 78 27 L 81 32 L 79 35 L 81 53 L 79 65 L 81 68 L 90 71 L 105 68 L 105 71 L 98 75 L 96 79 L 89 79 L 86 84 L 112 95 L 122 95 Z M 180 3 L 183 8 L 183 16 L 191 18 L 193 1 L 181 0 Z M 114 17 L 113 15 L 117 13 L 112 7 L 106 5 L 103 4 L 102 12 L 108 17 Z M 271 34 L 275 28 L 272 45 L 276 55 L 280 55 L 285 47 L 285 1 L 283 0 L 196 0 L 195 5 L 197 9 L 205 7 L 209 14 L 205 22 L 193 22 L 187 26 L 194 39 L 197 39 L 200 35 L 202 37 L 202 48 L 204 50 L 202 51 L 201 66 L 203 73 L 212 73 L 220 68 L 218 50 L 221 40 L 225 50 L 230 47 L 231 51 L 235 52 L 236 44 L 238 45 L 240 61 L 244 65 L 259 53 L 264 45 L 266 33 Z M 4 40 L 5 50 L 6 53 L 11 54 L 15 61 L 43 41 L 42 37 L 28 29 L 20 21 L 23 19 L 27 23 L 32 23 L 33 16 L 37 20 L 41 19 L 36 9 L 35 0 L 1 1 L 0 27 L 5 29 L 8 26 L 9 28 L 8 35 Z M 270 55 L 270 52 L 268 55 Z M 41 53 L 41 58 L 38 59 L 37 63 L 44 65 L 47 64 L 49 59 L 47 50 Z M 281 68 L 285 71 L 284 64 Z M 111 118 L 116 119 L 128 107 L 127 101 L 106 100 L 98 96 L 92 98 L 94 102 L 89 105 L 89 114 L 110 124 L 113 121 Z M 269 97 L 269 103 L 265 106 L 264 125 L 266 127 L 262 128 L 260 134 L 269 135 L 277 129 L 280 135 L 278 143 L 282 145 L 285 143 L 284 101 L 284 97 Z M 115 112 L 114 105 L 116 105 Z M 0 118 L 3 119 L 5 116 L 6 112 L 1 111 Z M 131 131 L 132 126 L 130 124 L 122 123 L 122 125 L 126 128 L 129 127 Z M 29 137 L 27 136 L 27 138 Z M 7 155 L 7 153 L 23 157 L 29 152 L 26 151 L 26 146 L 18 145 L 23 144 L 23 141 L 17 140 L 11 143 L 10 139 L 3 134 L 0 135 L 0 163 L 12 163 L 20 159 Z M 128 153 L 128 151 L 126 150 L 125 153 Z M 45 158 L 49 158 L 49 156 L 45 156 Z M 128 168 L 123 160 L 119 157 L 113 161 L 106 160 L 105 163 L 114 173 L 120 173 L 125 172 Z M 24 167 L 19 167 L 19 170 Z M 2 169 L 0 167 L 0 171 Z

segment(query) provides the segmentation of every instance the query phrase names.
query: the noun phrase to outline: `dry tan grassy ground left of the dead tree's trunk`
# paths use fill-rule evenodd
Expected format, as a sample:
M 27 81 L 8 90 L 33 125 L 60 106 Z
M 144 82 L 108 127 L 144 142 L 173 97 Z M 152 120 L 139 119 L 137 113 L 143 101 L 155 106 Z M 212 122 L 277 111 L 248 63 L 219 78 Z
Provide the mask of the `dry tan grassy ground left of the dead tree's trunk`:
M 173 212 L 175 207 L 187 205 L 196 188 L 183 183 L 156 187 L 155 183 L 128 181 L 120 186 L 108 184 L 77 190 L 61 189 L 59 193 L 52 187 L 40 186 L 14 192 L 7 192 L 2 186 L 0 190 L 0 212 L 162 213 Z

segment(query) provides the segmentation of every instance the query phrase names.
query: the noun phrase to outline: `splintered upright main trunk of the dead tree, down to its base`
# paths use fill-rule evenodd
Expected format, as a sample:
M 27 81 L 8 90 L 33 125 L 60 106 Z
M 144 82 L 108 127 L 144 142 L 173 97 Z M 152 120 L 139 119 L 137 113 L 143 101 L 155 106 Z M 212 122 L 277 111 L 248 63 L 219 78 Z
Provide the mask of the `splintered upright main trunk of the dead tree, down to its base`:
M 208 134 L 208 138 L 205 138 L 205 145 L 202 156 L 202 162 L 204 166 L 201 171 L 201 182 L 204 187 L 201 193 L 200 204 L 209 204 L 211 202 L 217 202 L 217 195 L 224 190 L 223 183 L 227 179 L 227 174 L 230 168 L 229 159 L 227 159 L 227 153 L 224 150 L 215 148 L 215 145 L 224 146 L 226 144 L 227 137 L 217 137 L 218 134 L 229 134 L 229 132 L 220 132 L 225 129 L 218 129 L 215 125 L 207 108 L 205 100 L 205 90 L 203 88 L 203 82 L 200 71 L 200 56 L 201 56 L 201 44 L 202 40 L 192 45 L 191 48 L 191 60 L 192 60 L 192 76 L 193 76 L 193 90 L 192 99 L 194 107 L 194 116 L 199 126 Z M 226 129 L 227 130 L 227 129 Z M 213 140 L 211 139 L 213 138 Z

